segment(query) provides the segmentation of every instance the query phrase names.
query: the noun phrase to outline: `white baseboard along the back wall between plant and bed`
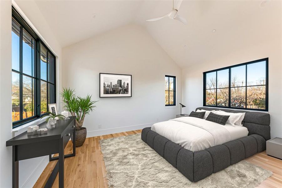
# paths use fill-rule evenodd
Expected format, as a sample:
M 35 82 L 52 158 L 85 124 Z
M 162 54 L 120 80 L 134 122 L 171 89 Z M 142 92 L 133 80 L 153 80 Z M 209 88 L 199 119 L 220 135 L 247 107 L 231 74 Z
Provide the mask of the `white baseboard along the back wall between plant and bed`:
M 108 128 L 103 130 L 96 130 L 96 131 L 87 131 L 87 138 L 94 137 L 94 136 L 101 136 L 105 134 L 113 134 L 113 133 L 121 133 L 125 131 L 134 131 L 138 129 L 142 129 L 145 127 L 151 127 L 154 123 L 148 124 L 141 124 L 141 125 L 132 125 L 127 127 L 118 127 L 118 128 Z

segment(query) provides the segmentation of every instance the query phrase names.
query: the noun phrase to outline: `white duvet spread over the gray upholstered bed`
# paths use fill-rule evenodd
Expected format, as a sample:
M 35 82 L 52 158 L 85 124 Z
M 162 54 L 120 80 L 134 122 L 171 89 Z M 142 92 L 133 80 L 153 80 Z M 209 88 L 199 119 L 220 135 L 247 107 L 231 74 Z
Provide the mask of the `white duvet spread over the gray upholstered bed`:
M 200 118 L 182 117 L 155 123 L 152 131 L 191 151 L 200 151 L 248 135 L 243 126 L 221 125 Z

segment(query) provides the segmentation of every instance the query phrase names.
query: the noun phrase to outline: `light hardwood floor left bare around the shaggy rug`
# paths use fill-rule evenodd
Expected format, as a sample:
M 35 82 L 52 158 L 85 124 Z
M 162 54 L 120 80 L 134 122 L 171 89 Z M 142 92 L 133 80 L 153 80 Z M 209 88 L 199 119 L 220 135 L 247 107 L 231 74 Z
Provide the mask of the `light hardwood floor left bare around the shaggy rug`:
M 141 133 L 141 130 L 128 131 L 123 133 L 107 134 L 86 138 L 83 146 L 76 148 L 76 156 L 65 159 L 65 180 L 66 188 L 76 187 L 108 187 L 107 180 L 104 178 L 106 168 L 103 155 L 100 150 L 99 140 L 126 136 L 130 134 Z M 65 154 L 72 152 L 72 143 L 69 142 L 65 148 Z M 271 170 L 273 175 L 264 180 L 258 187 L 282 187 L 282 160 L 266 155 L 265 151 L 255 154 L 248 159 L 250 163 L 261 166 L 264 169 Z M 51 161 L 42 172 L 34 188 L 44 187 L 49 175 L 57 161 Z M 54 182 L 53 188 L 57 188 L 59 181 L 58 175 Z

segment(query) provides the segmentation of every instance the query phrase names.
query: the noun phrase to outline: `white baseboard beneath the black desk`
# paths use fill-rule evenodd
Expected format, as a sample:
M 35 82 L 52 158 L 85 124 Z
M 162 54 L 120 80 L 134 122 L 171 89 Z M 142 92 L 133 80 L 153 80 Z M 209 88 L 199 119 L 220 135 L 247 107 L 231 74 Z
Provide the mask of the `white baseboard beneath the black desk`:
M 33 187 L 36 181 L 38 180 L 39 176 L 45 169 L 45 167 L 48 165 L 48 163 L 49 163 L 49 155 L 43 157 L 43 159 L 40 161 L 38 166 L 33 170 L 33 172 L 30 174 L 28 179 L 24 182 L 22 188 Z

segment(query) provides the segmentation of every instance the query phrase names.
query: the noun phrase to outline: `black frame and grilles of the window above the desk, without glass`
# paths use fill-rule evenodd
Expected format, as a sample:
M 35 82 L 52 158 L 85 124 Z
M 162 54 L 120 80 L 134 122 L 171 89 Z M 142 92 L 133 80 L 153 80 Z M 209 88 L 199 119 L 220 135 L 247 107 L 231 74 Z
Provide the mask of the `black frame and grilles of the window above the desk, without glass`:
M 29 24 L 23 19 L 23 17 L 17 12 L 17 10 L 12 6 L 12 18 L 11 20 L 15 20 L 19 25 L 20 25 L 20 41 L 19 41 L 19 51 L 20 51 L 20 56 L 19 56 L 19 71 L 17 70 L 13 70 L 12 72 L 16 72 L 18 73 L 19 76 L 19 87 L 20 87 L 20 91 L 19 91 L 19 95 L 20 95 L 20 104 L 19 104 L 19 120 L 12 122 L 12 128 L 16 128 L 19 126 L 22 126 L 26 123 L 29 123 L 31 121 L 34 121 L 36 119 L 41 118 L 43 115 L 45 114 L 41 114 L 40 112 L 40 108 L 41 108 L 41 98 L 40 98 L 40 93 L 41 93 L 41 88 L 40 88 L 40 46 L 43 45 L 44 48 L 47 50 L 47 55 L 50 54 L 53 58 L 54 58 L 54 64 L 53 64 L 53 71 L 52 73 L 48 72 L 48 68 L 47 68 L 47 77 L 49 74 L 52 74 L 53 76 L 53 83 L 50 82 L 50 84 L 52 84 L 54 86 L 53 88 L 53 92 L 50 94 L 52 95 L 53 99 L 54 99 L 54 103 L 56 103 L 56 56 L 52 53 L 52 51 L 47 47 L 46 44 L 44 44 L 44 42 L 42 41 L 42 39 L 40 39 L 40 37 L 33 31 L 33 29 L 29 26 Z M 25 73 L 23 73 L 23 45 L 22 45 L 22 38 L 23 38 L 23 30 L 29 34 L 33 39 L 34 39 L 34 76 L 30 76 L 27 75 Z M 12 52 L 13 53 L 13 52 Z M 11 62 L 12 63 L 12 62 Z M 47 67 L 48 67 L 48 62 L 47 62 Z M 32 79 L 34 79 L 34 115 L 28 118 L 24 118 L 23 119 L 23 94 L 22 94 L 22 90 L 23 90 L 23 76 L 28 76 Z M 49 82 L 47 80 L 47 88 L 49 87 Z M 49 95 L 48 89 L 47 89 L 47 95 Z M 47 111 L 48 111 L 48 100 L 47 100 Z

